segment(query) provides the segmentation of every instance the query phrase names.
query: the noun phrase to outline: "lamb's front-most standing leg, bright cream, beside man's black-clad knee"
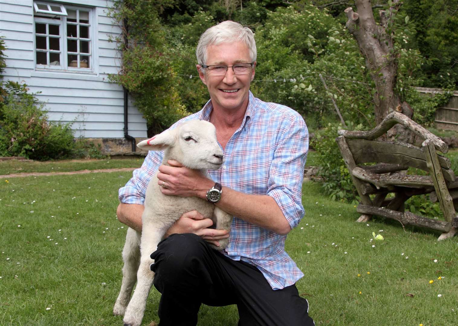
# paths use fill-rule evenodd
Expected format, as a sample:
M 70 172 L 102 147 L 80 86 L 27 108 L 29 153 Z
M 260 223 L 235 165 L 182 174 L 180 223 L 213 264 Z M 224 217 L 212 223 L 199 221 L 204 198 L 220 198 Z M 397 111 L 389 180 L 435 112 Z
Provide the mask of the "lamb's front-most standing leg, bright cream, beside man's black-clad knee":
M 137 286 L 131 302 L 129 302 L 127 310 L 125 311 L 124 325 L 139 326 L 142 323 L 146 301 L 154 279 L 154 273 L 149 268 L 154 262 L 150 255 L 157 249 L 158 243 L 164 236 L 168 227 L 169 226 L 158 228 L 156 225 L 151 226 L 143 223 L 143 230 L 145 230 L 145 232 L 142 232 L 140 245 L 141 258 L 137 272 Z

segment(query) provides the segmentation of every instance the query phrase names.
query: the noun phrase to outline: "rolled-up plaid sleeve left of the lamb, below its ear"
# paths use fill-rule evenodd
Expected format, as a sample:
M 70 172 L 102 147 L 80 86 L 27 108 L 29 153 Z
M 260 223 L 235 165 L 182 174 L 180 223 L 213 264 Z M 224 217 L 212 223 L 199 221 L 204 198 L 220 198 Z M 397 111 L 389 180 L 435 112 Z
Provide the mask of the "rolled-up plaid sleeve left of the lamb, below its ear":
M 132 178 L 119 189 L 119 200 L 125 204 L 140 204 L 145 201 L 145 194 L 151 177 L 161 165 L 164 152 L 148 152 L 142 167 L 134 170 Z

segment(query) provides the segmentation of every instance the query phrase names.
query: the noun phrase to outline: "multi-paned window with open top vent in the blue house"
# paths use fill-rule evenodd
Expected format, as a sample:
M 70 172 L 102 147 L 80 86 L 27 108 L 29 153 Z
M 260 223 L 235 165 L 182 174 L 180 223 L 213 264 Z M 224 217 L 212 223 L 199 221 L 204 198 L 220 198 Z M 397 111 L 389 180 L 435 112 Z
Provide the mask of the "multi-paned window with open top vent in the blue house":
M 92 10 L 35 1 L 37 68 L 93 71 Z

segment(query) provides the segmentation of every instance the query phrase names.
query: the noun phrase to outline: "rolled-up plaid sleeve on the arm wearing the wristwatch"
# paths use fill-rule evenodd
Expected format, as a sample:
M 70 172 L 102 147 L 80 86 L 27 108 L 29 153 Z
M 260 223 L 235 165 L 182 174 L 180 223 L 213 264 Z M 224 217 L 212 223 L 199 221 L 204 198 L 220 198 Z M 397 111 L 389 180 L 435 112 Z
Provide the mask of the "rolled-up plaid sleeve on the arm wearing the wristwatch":
M 267 195 L 273 197 L 290 227 L 294 228 L 305 214 L 302 182 L 309 134 L 299 114 L 285 118 L 279 131 L 270 166 Z

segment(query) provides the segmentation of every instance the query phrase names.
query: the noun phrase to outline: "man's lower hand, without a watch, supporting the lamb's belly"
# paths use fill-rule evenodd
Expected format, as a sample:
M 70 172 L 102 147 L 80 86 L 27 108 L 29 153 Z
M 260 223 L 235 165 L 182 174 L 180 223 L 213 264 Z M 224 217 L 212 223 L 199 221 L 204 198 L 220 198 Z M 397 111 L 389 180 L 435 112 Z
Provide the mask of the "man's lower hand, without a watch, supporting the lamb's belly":
M 164 237 L 174 233 L 193 233 L 218 247 L 218 240 L 229 238 L 229 232 L 209 228 L 212 225 L 213 221 L 210 218 L 204 218 L 201 213 L 197 211 L 186 212 L 167 230 Z

